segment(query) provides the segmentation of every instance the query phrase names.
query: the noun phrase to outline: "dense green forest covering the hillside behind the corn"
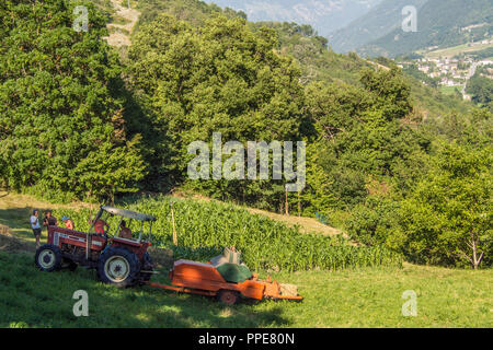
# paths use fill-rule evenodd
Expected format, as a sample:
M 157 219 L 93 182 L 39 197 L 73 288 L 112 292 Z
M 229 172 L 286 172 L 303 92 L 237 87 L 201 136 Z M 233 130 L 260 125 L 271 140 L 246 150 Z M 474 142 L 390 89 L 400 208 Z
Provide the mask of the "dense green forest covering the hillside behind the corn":
M 89 9 L 89 31 L 72 30 Z M 123 52 L 91 1 L 0 4 L 0 185 L 113 201 L 185 188 L 300 215 L 444 266 L 492 264 L 492 114 L 392 61 L 337 55 L 306 25 L 199 1 L 139 1 Z M 156 11 L 160 10 L 160 11 Z M 306 141 L 307 186 L 192 180 L 187 145 Z

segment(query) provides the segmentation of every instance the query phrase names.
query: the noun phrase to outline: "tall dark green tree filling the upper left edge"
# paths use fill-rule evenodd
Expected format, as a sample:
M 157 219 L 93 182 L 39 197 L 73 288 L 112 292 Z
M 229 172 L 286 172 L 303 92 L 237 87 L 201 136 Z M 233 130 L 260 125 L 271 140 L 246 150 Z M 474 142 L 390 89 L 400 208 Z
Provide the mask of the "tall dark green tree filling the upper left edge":
M 88 9 L 88 31 L 73 23 Z M 83 20 L 83 19 L 82 19 Z M 134 188 L 144 164 L 121 116 L 117 55 L 90 1 L 0 5 L 3 182 L 45 196 L 107 198 Z

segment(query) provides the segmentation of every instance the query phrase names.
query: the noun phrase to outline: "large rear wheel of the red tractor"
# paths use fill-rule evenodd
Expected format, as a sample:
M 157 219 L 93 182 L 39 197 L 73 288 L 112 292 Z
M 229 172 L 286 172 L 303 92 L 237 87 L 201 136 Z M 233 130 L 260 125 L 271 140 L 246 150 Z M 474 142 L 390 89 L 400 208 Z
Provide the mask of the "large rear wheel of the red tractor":
M 98 276 L 104 283 L 119 288 L 134 285 L 139 278 L 137 255 L 123 247 L 110 247 L 100 256 Z

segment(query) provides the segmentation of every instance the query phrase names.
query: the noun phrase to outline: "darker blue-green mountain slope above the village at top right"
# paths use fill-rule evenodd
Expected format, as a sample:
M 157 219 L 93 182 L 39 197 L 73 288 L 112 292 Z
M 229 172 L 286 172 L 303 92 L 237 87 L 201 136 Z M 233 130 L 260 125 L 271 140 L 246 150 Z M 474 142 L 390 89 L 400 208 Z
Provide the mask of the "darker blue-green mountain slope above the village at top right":
M 394 27 L 358 52 L 395 57 L 429 47 L 489 39 L 492 34 L 493 0 L 428 0 L 417 12 L 417 32 L 405 33 L 400 26 Z

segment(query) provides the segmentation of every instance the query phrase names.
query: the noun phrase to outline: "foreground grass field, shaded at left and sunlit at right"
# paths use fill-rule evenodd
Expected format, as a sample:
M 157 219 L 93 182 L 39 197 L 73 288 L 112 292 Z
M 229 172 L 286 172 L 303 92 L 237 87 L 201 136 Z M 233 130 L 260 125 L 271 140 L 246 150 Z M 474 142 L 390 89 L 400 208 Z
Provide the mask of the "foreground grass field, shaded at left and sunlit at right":
M 30 197 L 0 197 L 0 224 L 22 243 L 0 240 L 0 327 L 492 327 L 493 271 L 379 267 L 344 271 L 279 272 L 298 285 L 301 303 L 244 302 L 226 307 L 205 296 L 149 287 L 118 290 L 83 268 L 53 273 L 34 266 L 24 212 L 44 208 Z M 19 208 L 19 206 L 25 208 Z M 76 205 L 83 207 L 83 203 Z M 56 207 L 56 206 L 51 206 Z M 22 215 L 21 215 L 22 214 Z M 164 272 L 156 277 L 165 282 Z M 260 271 L 265 277 L 264 271 Z M 73 292 L 89 294 L 89 316 L 76 317 Z M 404 291 L 416 293 L 417 315 L 404 317 Z

